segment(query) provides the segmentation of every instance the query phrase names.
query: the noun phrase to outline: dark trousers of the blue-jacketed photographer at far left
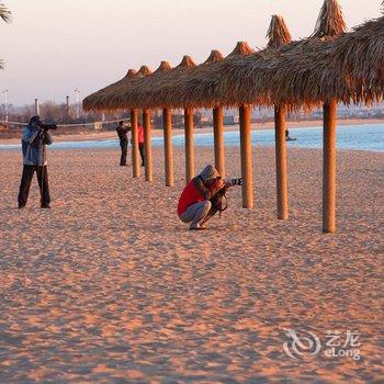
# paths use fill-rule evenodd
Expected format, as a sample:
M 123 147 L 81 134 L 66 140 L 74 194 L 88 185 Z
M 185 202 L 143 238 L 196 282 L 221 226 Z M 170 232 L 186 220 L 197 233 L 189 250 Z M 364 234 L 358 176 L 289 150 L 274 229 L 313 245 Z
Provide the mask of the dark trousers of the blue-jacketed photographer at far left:
M 37 173 L 37 182 L 41 194 L 42 206 L 49 205 L 49 184 L 47 166 L 24 166 L 19 191 L 19 206 L 25 206 L 29 199 L 33 173 Z

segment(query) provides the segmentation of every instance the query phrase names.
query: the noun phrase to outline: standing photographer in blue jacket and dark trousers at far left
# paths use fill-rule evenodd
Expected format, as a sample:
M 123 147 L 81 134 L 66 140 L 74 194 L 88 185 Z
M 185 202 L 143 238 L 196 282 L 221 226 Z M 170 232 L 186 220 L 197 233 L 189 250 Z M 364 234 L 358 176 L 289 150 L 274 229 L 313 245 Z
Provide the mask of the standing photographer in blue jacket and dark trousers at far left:
M 37 174 L 41 192 L 41 207 L 50 208 L 45 146 L 53 143 L 52 135 L 48 131 L 56 128 L 56 125 L 45 125 L 39 116 L 33 116 L 30 124 L 22 132 L 21 143 L 24 166 L 18 197 L 19 208 L 23 208 L 26 205 L 34 172 Z

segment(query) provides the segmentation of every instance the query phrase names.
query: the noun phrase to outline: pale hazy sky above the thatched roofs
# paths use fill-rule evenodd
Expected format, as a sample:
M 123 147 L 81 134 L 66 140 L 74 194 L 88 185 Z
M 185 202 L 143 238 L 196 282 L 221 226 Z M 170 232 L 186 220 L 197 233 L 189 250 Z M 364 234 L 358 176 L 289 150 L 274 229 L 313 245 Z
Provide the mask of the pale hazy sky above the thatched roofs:
M 203 61 L 237 41 L 266 45 L 272 14 L 294 38 L 308 36 L 323 0 L 0 0 L 13 22 L 0 22 L 0 89 L 21 105 L 81 98 L 122 78 L 128 68 L 182 55 Z M 348 27 L 376 18 L 381 0 L 340 0 Z M 1 102 L 3 93 L 1 92 Z

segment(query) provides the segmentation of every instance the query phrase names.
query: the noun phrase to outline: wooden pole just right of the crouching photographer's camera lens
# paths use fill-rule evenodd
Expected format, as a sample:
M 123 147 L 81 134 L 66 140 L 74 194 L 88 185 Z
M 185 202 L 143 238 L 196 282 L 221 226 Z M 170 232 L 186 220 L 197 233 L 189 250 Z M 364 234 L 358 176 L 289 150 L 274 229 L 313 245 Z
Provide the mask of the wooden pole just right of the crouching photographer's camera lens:
M 240 114 L 240 153 L 242 178 L 242 207 L 253 207 L 253 174 L 252 174 L 252 132 L 250 125 L 250 106 L 241 105 Z

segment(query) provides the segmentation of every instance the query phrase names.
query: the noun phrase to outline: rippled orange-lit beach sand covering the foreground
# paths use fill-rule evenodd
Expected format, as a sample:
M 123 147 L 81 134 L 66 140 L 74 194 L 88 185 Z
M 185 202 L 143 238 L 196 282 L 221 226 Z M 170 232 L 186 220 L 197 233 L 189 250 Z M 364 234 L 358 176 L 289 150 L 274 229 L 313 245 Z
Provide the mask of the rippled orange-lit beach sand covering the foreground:
M 36 180 L 15 208 L 21 156 L 0 151 L 0 382 L 383 380 L 384 155 L 339 151 L 335 235 L 321 234 L 321 151 L 289 156 L 289 221 L 275 217 L 274 149 L 257 147 L 255 210 L 234 188 L 196 233 L 176 215 L 182 149 L 174 188 L 160 148 L 154 183 L 118 167 L 117 148 L 50 150 L 50 211 Z M 207 162 L 213 150 L 196 148 L 196 168 Z M 287 357 L 285 329 L 314 332 L 320 352 Z M 327 330 L 359 331 L 347 349 L 361 359 L 326 357 Z

